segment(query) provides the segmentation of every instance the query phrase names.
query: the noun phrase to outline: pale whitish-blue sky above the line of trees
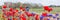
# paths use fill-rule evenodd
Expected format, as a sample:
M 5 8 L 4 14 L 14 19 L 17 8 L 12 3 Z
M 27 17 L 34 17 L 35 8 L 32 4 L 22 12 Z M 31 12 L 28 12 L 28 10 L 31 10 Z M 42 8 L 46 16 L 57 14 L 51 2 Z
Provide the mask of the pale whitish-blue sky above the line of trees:
M 60 5 L 60 0 L 0 0 L 0 6 L 4 5 L 4 2 L 22 2 L 22 3 L 41 3 L 42 5 Z

